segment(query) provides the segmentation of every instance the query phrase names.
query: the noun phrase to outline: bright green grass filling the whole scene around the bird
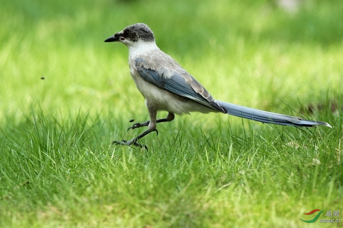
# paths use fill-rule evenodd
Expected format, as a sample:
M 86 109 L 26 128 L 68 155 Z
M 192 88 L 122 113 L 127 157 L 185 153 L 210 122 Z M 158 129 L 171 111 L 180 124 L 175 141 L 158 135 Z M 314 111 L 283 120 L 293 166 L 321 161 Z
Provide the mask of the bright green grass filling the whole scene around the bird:
M 343 208 L 340 1 L 0 5 L 0 227 L 340 227 L 299 220 Z M 148 118 L 103 42 L 137 22 L 216 99 L 333 128 L 192 113 L 112 145 Z

